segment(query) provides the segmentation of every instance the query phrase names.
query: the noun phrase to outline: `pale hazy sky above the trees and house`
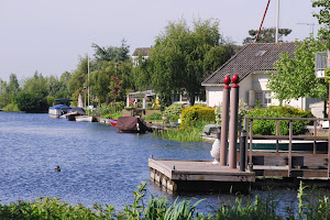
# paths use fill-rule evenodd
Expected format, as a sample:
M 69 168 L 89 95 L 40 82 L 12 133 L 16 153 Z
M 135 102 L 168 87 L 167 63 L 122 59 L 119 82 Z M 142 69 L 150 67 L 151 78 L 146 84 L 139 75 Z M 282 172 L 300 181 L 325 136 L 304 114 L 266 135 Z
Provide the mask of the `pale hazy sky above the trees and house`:
M 154 45 L 169 21 L 218 19 L 219 32 L 241 45 L 257 30 L 267 0 L 0 0 L 0 78 L 19 80 L 37 70 L 43 76 L 73 72 L 79 56 L 92 56 L 92 43 L 120 46 L 130 54 Z M 279 28 L 293 32 L 284 41 L 302 40 L 319 29 L 311 0 L 280 0 Z M 302 24 L 300 24 L 302 23 Z M 263 28 L 276 24 L 272 0 Z M 315 24 L 315 25 L 311 25 Z

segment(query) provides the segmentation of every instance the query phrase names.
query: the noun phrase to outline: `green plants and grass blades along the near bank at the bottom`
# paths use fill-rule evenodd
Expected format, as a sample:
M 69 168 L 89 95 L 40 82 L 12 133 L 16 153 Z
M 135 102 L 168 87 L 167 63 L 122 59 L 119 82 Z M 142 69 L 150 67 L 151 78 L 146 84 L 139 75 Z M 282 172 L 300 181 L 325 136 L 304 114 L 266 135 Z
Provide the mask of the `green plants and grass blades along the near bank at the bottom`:
M 300 183 L 297 198 L 293 198 L 290 206 L 279 210 L 280 198 L 276 197 L 272 188 L 264 195 L 238 196 L 234 201 L 212 207 L 209 213 L 198 211 L 198 205 L 204 199 L 191 205 L 191 200 L 179 200 L 173 204 L 166 197 L 150 196 L 147 204 L 143 202 L 146 195 L 146 183 L 139 185 L 133 193 L 133 204 L 125 205 L 123 210 L 116 210 L 111 205 L 94 204 L 85 207 L 81 204 L 73 206 L 59 198 L 40 197 L 34 201 L 18 201 L 0 204 L 1 219 L 329 219 L 329 197 L 322 196 L 317 189 L 308 189 Z

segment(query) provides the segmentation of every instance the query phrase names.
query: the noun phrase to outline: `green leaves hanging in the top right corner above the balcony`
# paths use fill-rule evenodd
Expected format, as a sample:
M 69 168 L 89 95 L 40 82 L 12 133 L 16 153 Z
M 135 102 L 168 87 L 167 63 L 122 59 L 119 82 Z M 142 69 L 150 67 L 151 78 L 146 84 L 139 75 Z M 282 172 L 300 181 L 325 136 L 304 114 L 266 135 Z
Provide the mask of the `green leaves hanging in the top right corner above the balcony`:
M 312 8 L 319 8 L 319 13 L 315 13 L 319 21 L 319 24 L 323 26 L 319 30 L 319 35 L 322 40 L 326 40 L 327 47 L 330 48 L 330 2 L 329 0 L 315 0 L 312 1 Z

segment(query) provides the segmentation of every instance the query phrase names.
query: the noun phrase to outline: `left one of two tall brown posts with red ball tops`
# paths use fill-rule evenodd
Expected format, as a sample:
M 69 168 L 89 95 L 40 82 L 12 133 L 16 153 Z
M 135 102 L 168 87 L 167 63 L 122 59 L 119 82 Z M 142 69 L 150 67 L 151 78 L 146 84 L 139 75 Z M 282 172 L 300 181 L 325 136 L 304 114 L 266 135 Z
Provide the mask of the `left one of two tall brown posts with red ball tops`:
M 230 98 L 230 77 L 223 79 L 222 114 L 221 114 L 221 140 L 220 140 L 220 166 L 227 166 L 227 147 L 229 131 L 229 98 Z

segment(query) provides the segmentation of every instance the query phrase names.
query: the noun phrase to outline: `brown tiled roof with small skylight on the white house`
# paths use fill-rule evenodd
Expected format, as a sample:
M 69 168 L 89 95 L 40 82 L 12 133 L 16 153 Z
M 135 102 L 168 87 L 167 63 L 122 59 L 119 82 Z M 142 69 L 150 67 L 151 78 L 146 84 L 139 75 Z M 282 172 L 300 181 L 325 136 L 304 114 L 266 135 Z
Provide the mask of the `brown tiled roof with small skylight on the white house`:
M 240 80 L 255 72 L 272 72 L 279 54 L 289 53 L 295 56 L 296 44 L 287 43 L 254 43 L 243 46 L 226 64 L 202 81 L 202 86 L 223 84 L 227 75 L 238 74 Z

